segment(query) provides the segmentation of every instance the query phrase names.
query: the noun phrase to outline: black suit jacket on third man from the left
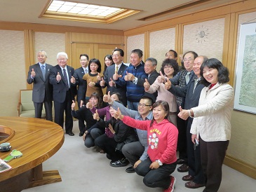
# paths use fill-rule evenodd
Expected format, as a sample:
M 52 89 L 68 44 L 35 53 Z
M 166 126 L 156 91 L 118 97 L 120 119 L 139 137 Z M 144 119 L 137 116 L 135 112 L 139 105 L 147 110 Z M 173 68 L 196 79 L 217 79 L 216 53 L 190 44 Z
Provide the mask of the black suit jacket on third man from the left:
M 77 102 L 80 103 L 81 100 L 83 102 L 86 101 L 86 90 L 87 90 L 87 83 L 83 80 L 84 70 L 83 67 L 80 67 L 74 71 L 74 78 L 76 78 L 76 83 L 72 84 L 76 87 L 77 85 Z

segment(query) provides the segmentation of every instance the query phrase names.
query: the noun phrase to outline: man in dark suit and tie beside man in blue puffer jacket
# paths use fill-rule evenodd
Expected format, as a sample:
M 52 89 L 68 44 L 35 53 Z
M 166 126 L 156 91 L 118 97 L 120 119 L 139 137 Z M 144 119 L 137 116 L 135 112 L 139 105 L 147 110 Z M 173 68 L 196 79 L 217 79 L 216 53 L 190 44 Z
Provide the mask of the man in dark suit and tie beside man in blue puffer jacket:
M 114 64 L 107 67 L 105 71 L 104 80 L 100 81 L 100 85 L 103 88 L 107 86 L 107 92 L 110 91 L 110 95 L 112 95 L 113 92 L 119 92 L 119 94 L 121 95 L 121 102 L 124 106 L 126 106 L 126 86 L 117 85 L 113 81 L 114 74 L 116 74 L 116 76 L 122 77 L 124 75 L 125 69 L 128 67 L 125 64 L 123 64 L 123 55 L 124 53 L 121 48 L 116 48 L 115 50 L 113 50 L 112 58 Z

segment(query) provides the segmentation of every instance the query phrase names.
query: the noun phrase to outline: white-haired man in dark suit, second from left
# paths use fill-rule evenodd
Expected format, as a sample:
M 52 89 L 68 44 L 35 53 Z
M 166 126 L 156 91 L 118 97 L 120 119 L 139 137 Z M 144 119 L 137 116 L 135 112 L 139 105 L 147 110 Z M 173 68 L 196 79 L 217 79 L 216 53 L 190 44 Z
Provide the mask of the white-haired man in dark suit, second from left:
M 66 114 L 65 128 L 66 133 L 74 136 L 73 118 L 71 114 L 72 100 L 76 94 L 76 87 L 70 86 L 71 78 L 74 74 L 74 68 L 67 65 L 67 53 L 60 52 L 57 54 L 58 64 L 50 69 L 50 84 L 53 85 L 53 101 L 55 109 L 55 123 L 63 128 L 64 111 Z

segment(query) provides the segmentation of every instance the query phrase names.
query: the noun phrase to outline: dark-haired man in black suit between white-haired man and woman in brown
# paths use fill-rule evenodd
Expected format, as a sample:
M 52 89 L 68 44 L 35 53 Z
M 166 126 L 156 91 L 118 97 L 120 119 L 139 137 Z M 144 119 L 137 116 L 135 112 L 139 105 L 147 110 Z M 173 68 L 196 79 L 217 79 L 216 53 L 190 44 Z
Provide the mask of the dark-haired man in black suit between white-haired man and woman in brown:
M 81 67 L 79 69 L 76 69 L 74 71 L 74 78 L 71 78 L 71 83 L 73 86 L 76 87 L 77 85 L 77 104 L 79 109 L 83 106 L 83 104 L 86 102 L 86 89 L 87 89 L 87 83 L 85 80 L 83 80 L 84 74 L 88 74 L 88 62 L 89 62 L 89 56 L 86 54 L 80 55 L 80 64 Z M 84 124 L 83 119 L 79 119 L 79 136 L 83 136 L 83 133 L 86 129 L 86 125 Z

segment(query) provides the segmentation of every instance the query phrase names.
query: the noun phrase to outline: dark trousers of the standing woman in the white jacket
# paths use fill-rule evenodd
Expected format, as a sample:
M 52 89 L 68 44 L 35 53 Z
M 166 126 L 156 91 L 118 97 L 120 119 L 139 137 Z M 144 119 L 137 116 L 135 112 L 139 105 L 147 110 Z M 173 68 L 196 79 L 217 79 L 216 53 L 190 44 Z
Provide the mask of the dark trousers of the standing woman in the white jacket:
M 229 141 L 204 142 L 200 138 L 201 162 L 206 177 L 204 192 L 216 192 L 222 181 L 222 164 Z

